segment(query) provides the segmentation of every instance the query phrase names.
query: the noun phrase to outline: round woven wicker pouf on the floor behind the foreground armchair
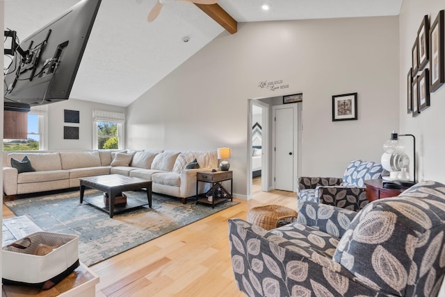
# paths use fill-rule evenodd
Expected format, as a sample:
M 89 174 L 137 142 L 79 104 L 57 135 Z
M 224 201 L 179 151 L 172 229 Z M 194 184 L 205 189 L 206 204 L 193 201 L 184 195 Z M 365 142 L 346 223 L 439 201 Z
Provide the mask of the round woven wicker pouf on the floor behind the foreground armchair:
M 266 230 L 292 223 L 296 218 L 295 210 L 282 205 L 258 206 L 248 211 L 248 222 Z

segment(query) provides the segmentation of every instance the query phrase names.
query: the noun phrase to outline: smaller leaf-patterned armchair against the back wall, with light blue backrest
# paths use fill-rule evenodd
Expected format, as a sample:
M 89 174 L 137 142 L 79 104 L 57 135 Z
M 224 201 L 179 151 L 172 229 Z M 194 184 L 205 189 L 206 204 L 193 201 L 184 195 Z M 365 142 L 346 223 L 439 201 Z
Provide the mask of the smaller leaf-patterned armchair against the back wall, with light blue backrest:
M 346 168 L 343 178 L 298 178 L 297 201 L 313 201 L 346 208 L 361 210 L 366 200 L 365 180 L 382 177 L 379 162 L 355 160 Z

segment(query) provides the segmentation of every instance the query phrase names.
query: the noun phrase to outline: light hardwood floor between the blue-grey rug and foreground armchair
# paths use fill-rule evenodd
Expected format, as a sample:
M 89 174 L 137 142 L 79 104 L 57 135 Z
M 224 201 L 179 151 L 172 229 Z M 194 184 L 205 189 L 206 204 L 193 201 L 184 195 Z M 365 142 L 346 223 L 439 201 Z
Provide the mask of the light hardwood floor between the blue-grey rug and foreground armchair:
M 296 193 L 261 192 L 260 183 L 254 179 L 250 201 L 234 199 L 240 204 L 91 266 L 96 296 L 245 296 L 234 283 L 227 219 L 246 219 L 259 205 L 296 208 Z M 3 218 L 12 216 L 3 205 Z

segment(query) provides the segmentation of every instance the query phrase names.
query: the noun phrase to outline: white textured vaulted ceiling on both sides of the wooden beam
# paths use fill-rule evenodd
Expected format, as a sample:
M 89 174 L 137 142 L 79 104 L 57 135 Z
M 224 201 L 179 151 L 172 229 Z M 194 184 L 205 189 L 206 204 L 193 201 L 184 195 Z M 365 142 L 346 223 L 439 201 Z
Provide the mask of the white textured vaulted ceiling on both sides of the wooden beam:
M 7 0 L 5 28 L 21 40 L 77 0 Z M 181 65 L 223 28 L 191 3 L 165 3 L 147 22 L 156 0 L 102 0 L 74 81 L 71 98 L 127 106 Z M 220 0 L 237 22 L 398 15 L 402 0 Z M 269 3 L 270 10 L 261 10 Z M 184 43 L 184 37 L 189 42 Z M 8 60 L 5 60 L 7 63 Z

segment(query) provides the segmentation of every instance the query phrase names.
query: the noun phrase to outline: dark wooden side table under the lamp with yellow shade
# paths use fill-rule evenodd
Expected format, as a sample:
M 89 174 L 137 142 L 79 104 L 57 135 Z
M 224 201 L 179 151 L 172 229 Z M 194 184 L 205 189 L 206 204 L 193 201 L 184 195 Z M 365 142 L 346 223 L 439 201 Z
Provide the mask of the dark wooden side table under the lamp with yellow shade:
M 227 197 L 221 197 L 216 198 L 216 187 L 223 187 L 221 183 L 225 180 L 230 180 L 230 195 Z M 205 198 L 199 198 L 198 194 L 198 185 L 199 183 L 211 183 L 211 190 L 213 190 L 212 193 L 212 201 L 208 201 L 207 197 Z M 233 171 L 202 171 L 196 173 L 196 203 L 203 203 L 207 205 L 211 205 L 212 208 L 215 207 L 216 204 L 226 201 L 227 199 L 230 199 L 230 201 L 233 201 L 233 192 L 234 188 L 234 180 L 233 180 Z M 226 192 L 227 190 L 224 189 Z

